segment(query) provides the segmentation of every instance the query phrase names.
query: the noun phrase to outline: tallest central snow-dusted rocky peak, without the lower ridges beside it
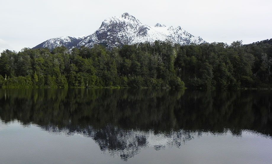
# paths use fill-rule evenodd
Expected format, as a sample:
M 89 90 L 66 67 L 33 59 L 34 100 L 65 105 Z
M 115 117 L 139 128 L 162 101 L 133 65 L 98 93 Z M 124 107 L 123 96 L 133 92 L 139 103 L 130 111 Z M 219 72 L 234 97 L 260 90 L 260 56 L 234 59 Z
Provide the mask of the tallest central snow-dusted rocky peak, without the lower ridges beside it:
M 164 34 L 142 24 L 132 15 L 124 13 L 121 17 L 110 17 L 104 20 L 101 27 L 79 42 L 78 46 L 92 47 L 94 44 L 103 44 L 114 47 L 156 40 L 170 41 Z

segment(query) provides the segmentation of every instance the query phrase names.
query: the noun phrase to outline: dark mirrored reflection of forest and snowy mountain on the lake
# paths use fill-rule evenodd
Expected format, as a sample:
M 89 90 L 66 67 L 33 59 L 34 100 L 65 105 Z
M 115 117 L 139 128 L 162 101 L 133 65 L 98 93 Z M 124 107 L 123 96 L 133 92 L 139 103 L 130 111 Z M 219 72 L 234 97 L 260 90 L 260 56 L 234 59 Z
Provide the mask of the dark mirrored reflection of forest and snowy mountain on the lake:
M 143 147 L 180 147 L 209 132 L 272 136 L 271 91 L 1 89 L 0 118 L 91 137 L 124 160 Z M 151 143 L 152 142 L 152 143 Z

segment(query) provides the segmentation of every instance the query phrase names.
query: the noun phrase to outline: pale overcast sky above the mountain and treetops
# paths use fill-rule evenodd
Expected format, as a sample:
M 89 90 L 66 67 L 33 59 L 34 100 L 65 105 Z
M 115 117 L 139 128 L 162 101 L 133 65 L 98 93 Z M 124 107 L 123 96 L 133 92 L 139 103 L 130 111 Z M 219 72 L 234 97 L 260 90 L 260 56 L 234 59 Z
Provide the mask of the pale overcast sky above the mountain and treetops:
M 104 19 L 124 12 L 147 25 L 180 25 L 210 43 L 272 38 L 271 0 L 0 0 L 0 51 L 90 35 Z

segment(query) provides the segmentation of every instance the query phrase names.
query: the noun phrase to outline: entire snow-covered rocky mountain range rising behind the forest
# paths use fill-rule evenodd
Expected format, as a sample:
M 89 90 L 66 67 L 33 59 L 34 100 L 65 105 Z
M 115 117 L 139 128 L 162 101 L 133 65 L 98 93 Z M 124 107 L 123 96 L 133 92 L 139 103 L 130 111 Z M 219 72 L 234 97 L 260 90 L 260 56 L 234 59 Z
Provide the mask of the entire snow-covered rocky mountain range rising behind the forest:
M 49 39 L 34 48 L 54 49 L 57 46 L 65 46 L 68 49 L 73 47 L 93 47 L 95 44 L 102 44 L 107 48 L 122 46 L 124 44 L 137 44 L 154 41 L 169 41 L 173 44 L 189 45 L 201 44 L 205 41 L 199 36 L 193 36 L 180 26 L 172 27 L 157 23 L 155 26 L 142 24 L 138 19 L 122 14 L 120 17 L 110 17 L 104 20 L 93 34 L 75 38 L 63 36 Z

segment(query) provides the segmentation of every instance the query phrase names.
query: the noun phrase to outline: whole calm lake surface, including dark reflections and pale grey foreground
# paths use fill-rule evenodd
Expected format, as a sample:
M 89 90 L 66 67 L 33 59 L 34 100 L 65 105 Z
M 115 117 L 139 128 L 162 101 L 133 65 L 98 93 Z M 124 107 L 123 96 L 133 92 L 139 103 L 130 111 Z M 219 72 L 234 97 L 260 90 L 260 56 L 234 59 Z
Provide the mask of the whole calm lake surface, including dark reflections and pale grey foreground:
M 271 91 L 0 90 L 0 163 L 272 163 Z

